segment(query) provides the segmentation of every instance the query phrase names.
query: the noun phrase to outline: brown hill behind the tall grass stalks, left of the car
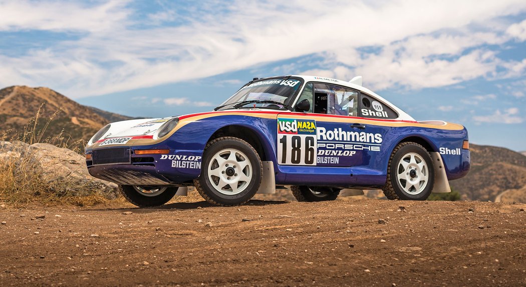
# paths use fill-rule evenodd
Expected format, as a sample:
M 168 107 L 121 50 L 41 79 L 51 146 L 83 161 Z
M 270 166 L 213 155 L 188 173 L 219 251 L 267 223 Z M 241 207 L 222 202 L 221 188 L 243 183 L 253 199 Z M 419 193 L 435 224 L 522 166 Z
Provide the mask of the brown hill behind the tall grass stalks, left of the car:
M 50 122 L 43 138 L 54 137 L 64 131 L 64 142 L 71 144 L 78 141 L 77 147 L 83 147 L 82 141 L 88 140 L 108 122 L 131 119 L 80 105 L 49 88 L 13 86 L 0 90 L 0 129 L 7 133 L 7 138 L 18 137 L 41 106 L 37 130 L 42 129 L 56 111 L 62 110 Z

